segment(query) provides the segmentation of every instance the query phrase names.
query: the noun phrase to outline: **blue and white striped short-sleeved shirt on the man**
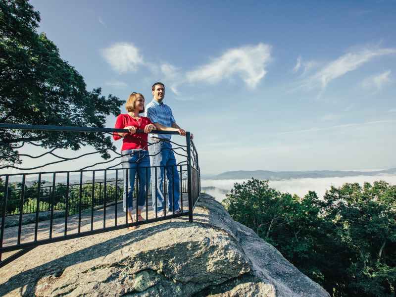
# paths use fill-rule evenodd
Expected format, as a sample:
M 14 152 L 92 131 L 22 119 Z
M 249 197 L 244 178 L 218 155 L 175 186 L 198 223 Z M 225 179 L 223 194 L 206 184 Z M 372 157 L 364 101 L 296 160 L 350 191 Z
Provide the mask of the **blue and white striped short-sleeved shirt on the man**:
M 172 109 L 163 102 L 159 103 L 152 99 L 146 106 L 146 116 L 152 123 L 158 123 L 165 127 L 172 127 L 172 123 L 176 123 L 172 114 Z M 170 140 L 170 134 L 151 134 L 151 137 L 163 138 Z

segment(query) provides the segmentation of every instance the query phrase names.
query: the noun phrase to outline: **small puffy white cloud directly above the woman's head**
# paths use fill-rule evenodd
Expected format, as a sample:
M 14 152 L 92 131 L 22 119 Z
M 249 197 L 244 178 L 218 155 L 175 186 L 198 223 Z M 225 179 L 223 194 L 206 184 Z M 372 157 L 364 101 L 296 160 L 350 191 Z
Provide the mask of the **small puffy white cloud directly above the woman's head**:
M 139 49 L 131 43 L 116 43 L 103 49 L 102 55 L 111 69 L 118 74 L 136 71 L 139 65 L 144 64 Z

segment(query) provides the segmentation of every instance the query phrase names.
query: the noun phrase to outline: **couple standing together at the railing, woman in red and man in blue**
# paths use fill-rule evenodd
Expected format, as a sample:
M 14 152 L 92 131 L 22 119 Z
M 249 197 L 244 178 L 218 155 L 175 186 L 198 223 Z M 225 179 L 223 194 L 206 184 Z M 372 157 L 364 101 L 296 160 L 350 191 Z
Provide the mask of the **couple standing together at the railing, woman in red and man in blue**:
M 129 133 L 113 135 L 115 140 L 122 138 L 123 141 L 121 148 L 124 173 L 123 209 L 128 212 L 128 223 L 134 221 L 132 216 L 132 193 L 137 172 L 139 184 L 137 198 L 138 220 L 143 220 L 141 212 L 145 207 L 146 187 L 149 185 L 150 175 L 152 179 L 151 195 L 154 216 L 155 210 L 157 210 L 158 217 L 164 216 L 164 207 L 166 207 L 164 205 L 165 193 L 163 191 L 164 166 L 167 168 L 168 211 L 172 213 L 181 212 L 179 206 L 180 180 L 176 158 L 170 143 L 171 135 L 150 134 L 150 143 L 152 144 L 148 146 L 147 133 L 150 133 L 152 130 L 177 131 L 180 135 L 186 136 L 186 131 L 176 124 L 171 108 L 162 102 L 165 96 L 164 84 L 157 82 L 152 85 L 151 90 L 153 99 L 146 106 L 146 117 L 139 115 L 145 111 L 145 98 L 140 93 L 132 93 L 125 106 L 128 113 L 120 114 L 115 122 L 115 128 L 129 130 Z M 145 133 L 138 134 L 136 133 L 137 129 L 144 130 Z M 193 139 L 193 134 L 191 134 L 191 139 Z M 160 167 L 151 167 L 151 170 L 146 169 L 150 166 L 149 155 L 151 155 L 151 166 Z M 128 189 L 126 189 L 125 184 L 128 185 Z M 173 198 L 173 201 L 171 201 L 171 198 Z M 136 227 L 131 227 L 131 229 L 136 229 Z

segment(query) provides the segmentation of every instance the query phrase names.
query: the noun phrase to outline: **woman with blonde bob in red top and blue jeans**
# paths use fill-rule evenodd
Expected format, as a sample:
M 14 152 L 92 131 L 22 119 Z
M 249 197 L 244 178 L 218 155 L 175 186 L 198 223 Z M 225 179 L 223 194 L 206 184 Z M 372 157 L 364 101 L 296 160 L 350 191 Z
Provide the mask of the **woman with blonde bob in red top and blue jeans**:
M 134 222 L 132 217 L 132 199 L 135 184 L 135 175 L 138 173 L 139 193 L 138 193 L 138 220 L 142 221 L 142 209 L 145 207 L 146 187 L 150 183 L 150 158 L 147 148 L 147 133 L 150 133 L 155 126 L 151 121 L 139 113 L 145 111 L 145 98 L 140 93 L 132 93 L 125 105 L 128 113 L 120 114 L 115 121 L 117 129 L 128 129 L 129 133 L 113 134 L 114 140 L 122 138 L 121 148 L 122 168 L 124 174 L 124 195 L 122 199 L 123 210 L 128 212 L 128 223 Z M 136 133 L 137 129 L 144 130 L 145 133 Z M 126 189 L 126 185 L 128 189 Z M 136 229 L 136 226 L 129 229 Z

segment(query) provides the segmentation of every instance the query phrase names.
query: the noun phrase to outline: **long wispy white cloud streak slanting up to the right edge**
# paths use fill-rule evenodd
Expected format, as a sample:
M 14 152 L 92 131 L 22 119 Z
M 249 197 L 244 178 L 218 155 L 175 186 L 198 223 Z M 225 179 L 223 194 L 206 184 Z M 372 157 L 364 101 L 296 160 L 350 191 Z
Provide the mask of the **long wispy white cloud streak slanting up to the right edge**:
M 321 87 L 323 91 L 331 81 L 347 74 L 348 72 L 356 70 L 375 57 L 395 53 L 396 49 L 394 48 L 380 49 L 366 47 L 353 49 L 336 60 L 329 62 L 313 75 L 300 81 L 296 89 L 303 88 L 310 90 L 316 87 Z

